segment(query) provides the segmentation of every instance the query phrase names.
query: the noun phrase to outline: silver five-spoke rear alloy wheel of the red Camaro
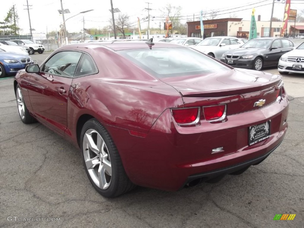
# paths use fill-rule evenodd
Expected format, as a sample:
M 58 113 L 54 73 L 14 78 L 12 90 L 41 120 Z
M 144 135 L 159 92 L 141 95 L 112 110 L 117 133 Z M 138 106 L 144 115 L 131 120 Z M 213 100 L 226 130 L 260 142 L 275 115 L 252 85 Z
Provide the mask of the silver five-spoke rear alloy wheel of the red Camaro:
M 88 129 L 83 137 L 83 156 L 85 166 L 95 185 L 101 189 L 109 188 L 112 180 L 112 166 L 108 148 L 100 134 Z

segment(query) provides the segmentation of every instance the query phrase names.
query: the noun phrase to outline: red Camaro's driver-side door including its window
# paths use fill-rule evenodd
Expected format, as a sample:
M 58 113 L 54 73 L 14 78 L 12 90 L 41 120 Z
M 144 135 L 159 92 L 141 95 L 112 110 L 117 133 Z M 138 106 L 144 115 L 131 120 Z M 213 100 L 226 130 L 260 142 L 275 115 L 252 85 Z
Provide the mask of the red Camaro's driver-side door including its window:
M 29 98 L 36 118 L 60 134 L 67 127 L 67 100 L 81 55 L 78 51 L 57 52 L 29 79 Z

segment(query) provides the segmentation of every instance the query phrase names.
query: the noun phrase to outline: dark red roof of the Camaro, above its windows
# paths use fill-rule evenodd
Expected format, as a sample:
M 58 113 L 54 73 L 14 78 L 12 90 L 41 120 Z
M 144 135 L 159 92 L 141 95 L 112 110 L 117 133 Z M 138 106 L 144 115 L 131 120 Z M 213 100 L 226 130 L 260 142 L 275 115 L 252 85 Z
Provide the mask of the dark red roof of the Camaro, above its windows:
M 114 51 L 119 50 L 130 50 L 130 49 L 141 49 L 141 48 L 149 48 L 149 45 L 146 42 L 140 42 L 140 41 L 134 41 L 134 42 L 128 42 L 128 41 L 121 41 L 121 42 L 100 42 L 100 43 L 75 43 L 75 44 L 69 44 L 68 50 L 71 48 L 77 48 L 77 47 L 84 47 L 84 48 L 90 48 L 90 49 L 96 49 L 98 47 L 107 47 L 109 49 L 112 49 Z M 159 42 L 154 43 L 154 45 L 151 47 L 179 47 L 179 48 L 189 48 L 186 46 L 181 46 L 179 44 L 173 44 L 170 42 Z M 58 48 L 57 50 L 66 50 L 65 46 Z

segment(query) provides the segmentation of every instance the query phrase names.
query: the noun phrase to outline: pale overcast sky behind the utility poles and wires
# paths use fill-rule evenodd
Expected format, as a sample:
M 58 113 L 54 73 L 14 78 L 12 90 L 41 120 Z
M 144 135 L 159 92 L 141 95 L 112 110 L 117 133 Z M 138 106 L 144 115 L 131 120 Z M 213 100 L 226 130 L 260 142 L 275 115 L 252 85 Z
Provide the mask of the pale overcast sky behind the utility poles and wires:
M 28 0 L 29 5 L 31 6 L 29 10 L 32 29 L 36 29 L 36 32 L 48 32 L 52 30 L 59 30 L 60 23 L 62 22 L 62 16 L 59 16 L 58 9 L 61 9 L 60 0 Z M 97 28 L 102 29 L 104 26 L 109 24 L 109 19 L 111 18 L 111 8 L 110 0 L 62 0 L 64 9 L 69 9 L 71 13 L 65 14 L 65 19 L 76 15 L 77 13 L 89 9 L 94 9 L 92 12 L 78 15 L 73 17 L 66 22 L 67 30 L 69 32 L 79 32 L 83 28 L 82 17 L 85 17 L 85 28 Z M 122 13 L 126 13 L 130 16 L 130 24 L 136 25 L 137 17 L 143 19 L 147 17 L 147 11 L 144 8 L 148 7 L 147 1 L 132 1 L 132 0 L 113 0 L 113 7 L 119 8 Z M 183 22 L 186 22 L 187 16 L 188 19 L 193 19 L 193 14 L 199 15 L 200 10 L 203 11 L 223 11 L 219 12 L 217 18 L 226 18 L 229 17 L 229 12 L 231 14 L 236 14 L 239 18 L 244 20 L 250 20 L 251 10 L 255 7 L 255 17 L 257 20 L 257 15 L 261 15 L 261 20 L 270 20 L 271 16 L 271 3 L 272 0 L 213 0 L 213 1 L 185 1 L 185 0 L 149 0 L 150 9 L 150 27 L 159 28 L 159 22 L 164 22 L 164 18 L 155 17 L 152 21 L 153 16 L 164 16 L 160 12 L 166 4 L 171 3 L 174 6 L 181 6 L 181 16 L 185 19 Z M 206 4 L 208 2 L 208 4 Z M 282 0 L 281 0 L 282 2 Z M 294 3 L 297 4 L 294 4 Z M 301 3 L 301 4 L 299 4 Z M 0 21 L 6 16 L 9 8 L 16 4 L 16 9 L 19 15 L 19 27 L 23 29 L 22 34 L 29 33 L 29 17 L 26 8 L 26 0 L 1 0 L 0 3 Z M 266 5 L 268 4 L 268 5 Z M 261 6 L 264 5 L 264 6 Z M 242 7 L 243 6 L 243 7 Z M 261 7 L 257 7 L 261 6 Z M 275 3 L 274 17 L 280 19 L 283 18 L 284 6 L 282 3 Z M 246 10 L 243 10 L 246 9 Z M 304 0 L 292 0 L 291 9 L 304 9 Z M 238 11 L 238 12 L 233 12 Z M 226 14 L 224 14 L 226 13 Z M 197 17 L 197 16 L 196 16 Z M 147 27 L 147 22 L 141 22 L 141 28 L 145 29 Z M 20 34 L 21 34 L 20 33 Z

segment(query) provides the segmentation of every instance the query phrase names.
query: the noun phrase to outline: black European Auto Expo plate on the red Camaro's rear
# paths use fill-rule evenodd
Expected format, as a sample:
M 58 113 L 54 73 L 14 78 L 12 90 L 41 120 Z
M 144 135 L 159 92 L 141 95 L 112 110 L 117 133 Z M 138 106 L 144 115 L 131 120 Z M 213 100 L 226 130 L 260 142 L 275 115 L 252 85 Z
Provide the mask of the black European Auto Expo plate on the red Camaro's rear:
M 270 137 L 270 120 L 248 127 L 248 145 L 254 145 Z

